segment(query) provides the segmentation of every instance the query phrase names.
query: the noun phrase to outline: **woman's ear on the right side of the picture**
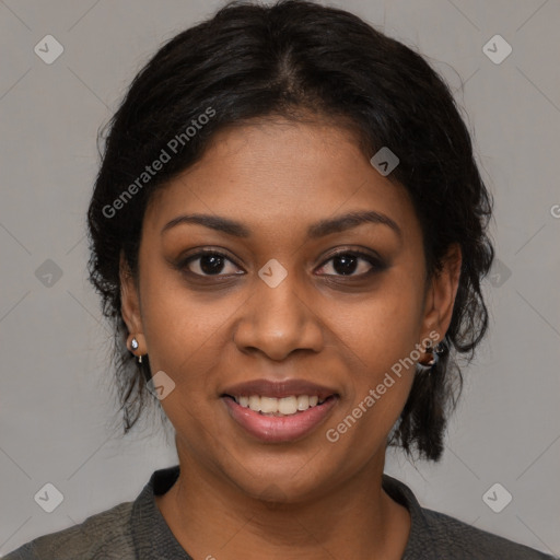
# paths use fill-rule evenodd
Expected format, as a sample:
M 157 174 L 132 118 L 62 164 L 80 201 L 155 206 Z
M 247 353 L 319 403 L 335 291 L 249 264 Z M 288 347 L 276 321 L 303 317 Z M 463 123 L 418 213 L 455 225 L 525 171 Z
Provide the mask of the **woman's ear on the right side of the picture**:
M 425 295 L 424 336 L 436 331 L 442 340 L 450 328 L 453 306 L 460 278 L 463 255 L 458 244 L 453 244 L 442 260 L 442 268 L 434 272 Z

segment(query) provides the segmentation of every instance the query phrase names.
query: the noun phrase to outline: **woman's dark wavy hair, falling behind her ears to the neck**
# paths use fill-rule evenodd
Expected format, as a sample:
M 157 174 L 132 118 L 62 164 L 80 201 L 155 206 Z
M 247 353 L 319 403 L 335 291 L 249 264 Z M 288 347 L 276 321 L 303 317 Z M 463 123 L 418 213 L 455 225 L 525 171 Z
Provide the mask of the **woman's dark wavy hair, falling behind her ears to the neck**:
M 202 120 L 205 114 L 212 118 Z M 147 399 L 156 399 L 145 389 L 149 360 L 137 364 L 126 347 L 119 257 L 137 278 L 143 215 L 156 189 L 198 161 L 223 127 L 272 115 L 350 127 L 368 159 L 382 147 L 397 154 L 389 179 L 412 200 L 429 275 L 439 272 L 452 244 L 460 246 L 445 351 L 430 375 L 417 374 L 389 439 L 409 455 L 416 447 L 438 460 L 463 385 L 458 354 L 471 360 L 488 326 L 480 281 L 493 259 L 492 199 L 453 95 L 424 58 L 357 15 L 299 0 L 230 2 L 179 33 L 137 74 L 103 130 L 109 131 L 88 211 L 89 272 L 114 326 L 125 433 Z M 195 135 L 186 132 L 189 125 L 197 126 Z M 138 177 L 173 138 L 182 139 L 173 158 L 140 188 Z

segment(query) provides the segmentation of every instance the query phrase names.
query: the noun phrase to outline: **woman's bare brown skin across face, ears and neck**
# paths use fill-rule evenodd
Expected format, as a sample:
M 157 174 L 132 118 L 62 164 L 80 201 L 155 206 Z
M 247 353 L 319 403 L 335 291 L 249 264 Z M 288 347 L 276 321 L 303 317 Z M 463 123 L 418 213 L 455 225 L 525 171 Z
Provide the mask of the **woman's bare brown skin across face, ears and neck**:
M 311 224 L 362 210 L 390 218 L 400 234 L 365 223 L 307 237 Z M 234 219 L 252 233 L 237 238 L 189 223 L 161 233 L 186 213 Z M 203 276 L 200 259 L 179 269 L 182 256 L 201 248 L 226 254 L 218 280 Z M 385 267 L 360 257 L 343 276 L 332 253 L 352 249 L 376 252 Z M 288 272 L 276 288 L 257 273 L 272 258 Z M 176 431 L 180 476 L 155 501 L 192 558 L 401 557 L 410 516 L 382 489 L 382 474 L 413 369 L 338 442 L 325 433 L 415 345 L 445 334 L 459 270 L 452 247 L 441 275 L 427 279 L 406 190 L 370 164 L 348 130 L 326 122 L 276 118 L 224 129 L 156 194 L 137 280 L 121 262 L 122 316 L 140 342 L 135 353 L 149 353 L 152 373 L 176 384 L 161 405 Z M 226 386 L 260 377 L 312 381 L 339 399 L 308 435 L 265 444 L 220 398 Z

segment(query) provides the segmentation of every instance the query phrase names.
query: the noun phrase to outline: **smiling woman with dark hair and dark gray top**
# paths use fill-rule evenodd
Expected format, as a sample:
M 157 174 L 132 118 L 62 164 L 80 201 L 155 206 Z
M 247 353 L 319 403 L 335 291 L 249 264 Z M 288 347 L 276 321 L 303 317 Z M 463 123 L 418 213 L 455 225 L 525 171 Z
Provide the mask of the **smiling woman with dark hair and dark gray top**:
M 490 214 L 447 86 L 357 16 L 237 3 L 174 37 L 89 226 L 125 431 L 155 395 L 179 465 L 7 558 L 550 558 L 383 474 L 387 445 L 442 454 Z

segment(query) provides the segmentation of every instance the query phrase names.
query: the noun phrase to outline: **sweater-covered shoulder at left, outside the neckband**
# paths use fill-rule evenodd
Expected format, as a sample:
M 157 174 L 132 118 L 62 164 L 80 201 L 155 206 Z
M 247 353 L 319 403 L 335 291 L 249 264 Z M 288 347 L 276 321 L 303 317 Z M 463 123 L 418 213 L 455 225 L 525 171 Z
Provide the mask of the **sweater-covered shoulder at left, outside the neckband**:
M 122 502 L 79 525 L 37 537 L 2 560 L 133 560 L 132 505 Z

